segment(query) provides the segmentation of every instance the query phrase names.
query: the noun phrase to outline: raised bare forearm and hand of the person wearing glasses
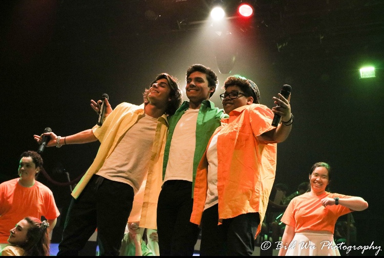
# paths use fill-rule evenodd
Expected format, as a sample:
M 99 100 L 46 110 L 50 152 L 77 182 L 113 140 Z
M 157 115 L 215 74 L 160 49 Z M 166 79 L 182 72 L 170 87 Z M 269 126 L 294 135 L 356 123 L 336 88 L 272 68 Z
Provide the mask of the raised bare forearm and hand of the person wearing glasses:
M 280 115 L 282 121 L 288 122 L 292 117 L 291 105 L 289 103 L 291 95 L 289 95 L 288 99 L 286 99 L 283 97 L 283 95 L 279 93 L 279 97 L 280 99 L 273 97 L 274 103 L 278 106 L 272 107 L 272 112 L 274 114 Z M 259 137 L 264 141 L 283 142 L 288 138 L 291 132 L 291 128 L 292 123 L 289 125 L 284 125 L 283 123 L 280 123 L 278 127 L 263 133 Z

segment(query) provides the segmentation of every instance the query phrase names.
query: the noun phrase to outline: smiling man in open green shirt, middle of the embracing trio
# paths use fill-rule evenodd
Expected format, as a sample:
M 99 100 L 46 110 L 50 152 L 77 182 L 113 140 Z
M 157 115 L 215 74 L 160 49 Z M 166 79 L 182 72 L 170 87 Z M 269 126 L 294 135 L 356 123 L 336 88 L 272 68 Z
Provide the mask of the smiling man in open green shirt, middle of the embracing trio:
M 196 169 L 212 133 L 226 115 L 209 98 L 215 93 L 217 75 L 210 68 L 193 65 L 186 72 L 186 95 L 169 120 L 164 151 L 164 182 L 157 206 L 160 255 L 193 255 L 199 227 L 190 220 Z

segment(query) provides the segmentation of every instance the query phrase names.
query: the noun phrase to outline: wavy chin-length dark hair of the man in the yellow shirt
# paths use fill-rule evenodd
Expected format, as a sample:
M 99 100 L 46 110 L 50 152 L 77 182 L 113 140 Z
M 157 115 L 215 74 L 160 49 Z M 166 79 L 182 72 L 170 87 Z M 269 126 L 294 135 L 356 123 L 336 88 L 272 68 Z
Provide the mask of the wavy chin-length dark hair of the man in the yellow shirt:
M 169 84 L 169 88 L 170 88 L 170 93 L 169 93 L 170 101 L 169 101 L 168 106 L 165 110 L 165 114 L 171 116 L 171 115 L 175 114 L 176 110 L 181 105 L 182 95 L 181 95 L 180 87 L 179 87 L 179 84 L 177 83 L 177 79 L 175 77 L 170 76 L 167 73 L 162 73 L 162 74 L 159 74 L 156 77 L 156 79 L 151 82 L 150 88 L 152 87 L 152 84 L 154 84 L 156 81 L 158 81 L 160 79 L 167 79 L 168 80 L 168 84 Z M 150 92 L 149 89 L 145 89 L 145 91 L 143 93 L 143 98 L 144 98 L 145 104 L 147 104 L 149 102 L 148 101 L 148 93 L 149 92 Z

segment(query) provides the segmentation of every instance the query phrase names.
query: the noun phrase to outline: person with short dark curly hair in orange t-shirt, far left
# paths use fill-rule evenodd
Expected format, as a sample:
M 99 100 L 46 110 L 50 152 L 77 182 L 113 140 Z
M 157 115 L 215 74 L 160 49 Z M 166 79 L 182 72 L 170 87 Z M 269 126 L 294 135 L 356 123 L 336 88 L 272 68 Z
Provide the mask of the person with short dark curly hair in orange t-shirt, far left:
M 20 156 L 19 178 L 0 184 L 0 249 L 8 244 L 9 229 L 25 217 L 44 216 L 50 227 L 55 227 L 59 210 L 52 191 L 36 181 L 42 168 L 41 156 L 29 150 Z

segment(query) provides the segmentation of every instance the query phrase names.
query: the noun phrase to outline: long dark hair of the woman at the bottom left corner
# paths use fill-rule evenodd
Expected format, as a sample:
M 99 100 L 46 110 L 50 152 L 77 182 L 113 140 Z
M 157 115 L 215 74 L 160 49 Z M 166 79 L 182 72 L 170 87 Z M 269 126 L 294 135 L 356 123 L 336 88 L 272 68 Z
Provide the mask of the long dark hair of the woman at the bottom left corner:
M 20 245 L 25 250 L 24 256 L 49 256 L 49 235 L 46 221 L 41 222 L 34 217 L 24 218 L 30 225 L 25 244 Z

